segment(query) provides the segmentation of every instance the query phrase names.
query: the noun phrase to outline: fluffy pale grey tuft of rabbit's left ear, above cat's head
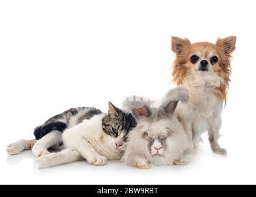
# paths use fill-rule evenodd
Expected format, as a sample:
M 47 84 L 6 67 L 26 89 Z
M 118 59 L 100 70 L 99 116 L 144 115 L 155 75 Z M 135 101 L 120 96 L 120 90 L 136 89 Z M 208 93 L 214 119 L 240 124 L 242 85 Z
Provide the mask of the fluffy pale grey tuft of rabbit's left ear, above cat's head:
M 132 111 L 135 108 L 141 108 L 141 107 L 148 107 L 150 108 L 151 101 L 149 98 L 146 97 L 139 97 L 139 96 L 131 96 L 127 97 L 124 102 L 122 102 L 122 110 L 125 111 Z

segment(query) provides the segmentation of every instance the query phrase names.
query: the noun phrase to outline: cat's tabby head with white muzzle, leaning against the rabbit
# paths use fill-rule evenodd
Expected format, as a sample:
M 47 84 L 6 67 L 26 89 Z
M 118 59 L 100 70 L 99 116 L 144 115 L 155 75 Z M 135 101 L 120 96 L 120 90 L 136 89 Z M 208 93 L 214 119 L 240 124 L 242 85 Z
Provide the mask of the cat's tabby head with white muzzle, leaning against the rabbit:
M 132 113 L 127 113 L 109 102 L 108 114 L 102 119 L 103 131 L 111 136 L 110 145 L 117 150 L 125 150 L 127 134 L 137 125 Z

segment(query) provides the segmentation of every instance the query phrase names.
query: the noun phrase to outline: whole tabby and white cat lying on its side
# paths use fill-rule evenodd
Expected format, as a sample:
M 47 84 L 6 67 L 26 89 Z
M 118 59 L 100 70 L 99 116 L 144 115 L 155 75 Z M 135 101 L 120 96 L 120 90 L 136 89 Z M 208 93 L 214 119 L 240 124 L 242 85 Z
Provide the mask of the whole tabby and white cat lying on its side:
M 72 108 L 36 127 L 36 140 L 19 140 L 7 147 L 9 155 L 32 149 L 35 167 L 44 168 L 87 159 L 93 165 L 120 159 L 126 150 L 127 134 L 137 125 L 131 113 L 109 102 L 108 113 L 92 108 Z M 49 153 L 49 149 L 61 151 Z

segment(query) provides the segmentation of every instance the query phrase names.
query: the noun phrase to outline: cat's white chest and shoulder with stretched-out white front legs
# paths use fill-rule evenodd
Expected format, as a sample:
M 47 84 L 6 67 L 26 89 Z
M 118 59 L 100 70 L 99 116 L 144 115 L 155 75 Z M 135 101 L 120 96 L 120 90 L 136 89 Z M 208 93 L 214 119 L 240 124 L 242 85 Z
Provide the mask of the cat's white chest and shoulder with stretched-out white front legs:
M 117 149 L 116 139 L 105 134 L 102 130 L 102 118 L 105 113 L 96 115 L 90 120 L 85 119 L 82 123 L 66 129 L 62 134 L 63 147 L 66 148 L 59 153 L 43 155 L 35 160 L 35 167 L 43 168 L 59 164 L 87 159 L 93 165 L 104 165 L 107 160 L 120 159 L 124 151 Z

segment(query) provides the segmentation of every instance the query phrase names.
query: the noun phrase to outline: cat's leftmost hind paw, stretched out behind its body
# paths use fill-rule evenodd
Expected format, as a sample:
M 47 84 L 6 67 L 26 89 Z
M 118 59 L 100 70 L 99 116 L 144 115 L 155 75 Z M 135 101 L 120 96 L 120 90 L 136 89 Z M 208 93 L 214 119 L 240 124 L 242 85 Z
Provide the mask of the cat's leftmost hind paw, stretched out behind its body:
M 17 142 L 10 143 L 7 148 L 8 155 L 19 155 L 24 150 L 32 150 L 36 140 L 18 140 Z

